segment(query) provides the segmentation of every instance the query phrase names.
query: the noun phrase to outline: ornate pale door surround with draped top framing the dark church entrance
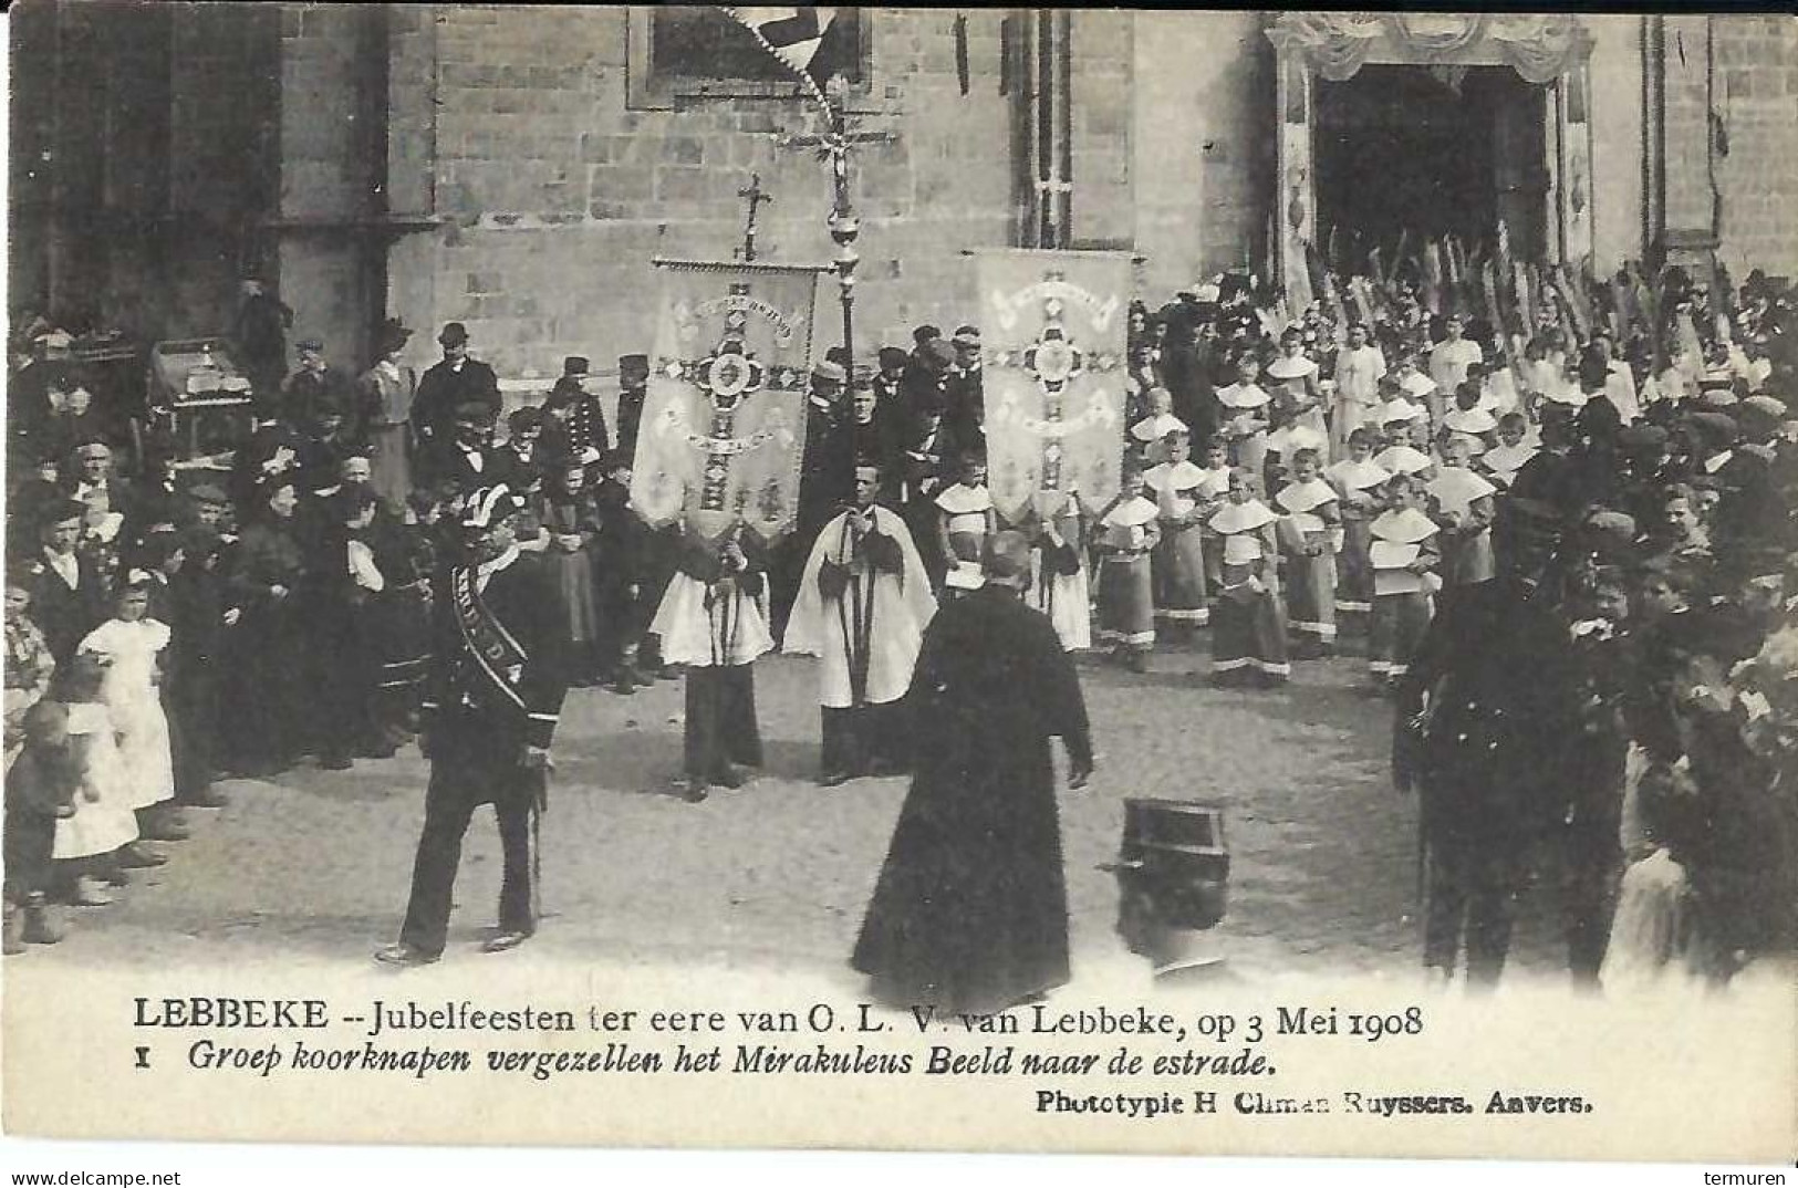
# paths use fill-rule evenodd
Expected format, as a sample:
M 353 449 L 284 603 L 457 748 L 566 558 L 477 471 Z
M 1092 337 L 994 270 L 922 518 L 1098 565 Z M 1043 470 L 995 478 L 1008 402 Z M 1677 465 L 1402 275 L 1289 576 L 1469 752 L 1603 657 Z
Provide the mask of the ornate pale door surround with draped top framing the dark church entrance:
M 1593 253 L 1593 38 L 1568 14 L 1512 13 L 1282 13 L 1268 29 L 1277 70 L 1275 268 L 1287 291 L 1309 293 L 1318 79 L 1343 81 L 1366 65 L 1440 70 L 1509 66 L 1546 88 L 1543 104 L 1544 255 L 1579 264 Z

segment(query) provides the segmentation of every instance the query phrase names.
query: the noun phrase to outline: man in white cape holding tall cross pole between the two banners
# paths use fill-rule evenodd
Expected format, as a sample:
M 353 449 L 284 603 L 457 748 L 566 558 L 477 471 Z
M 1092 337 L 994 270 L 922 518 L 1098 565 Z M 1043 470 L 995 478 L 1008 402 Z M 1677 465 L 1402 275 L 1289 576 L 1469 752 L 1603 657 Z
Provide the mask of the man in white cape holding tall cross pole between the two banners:
M 879 489 L 879 467 L 858 465 L 856 503 L 818 534 L 788 622 L 784 651 L 823 661 L 825 787 L 901 766 L 892 719 L 937 613 L 924 559 L 904 519 L 874 501 Z

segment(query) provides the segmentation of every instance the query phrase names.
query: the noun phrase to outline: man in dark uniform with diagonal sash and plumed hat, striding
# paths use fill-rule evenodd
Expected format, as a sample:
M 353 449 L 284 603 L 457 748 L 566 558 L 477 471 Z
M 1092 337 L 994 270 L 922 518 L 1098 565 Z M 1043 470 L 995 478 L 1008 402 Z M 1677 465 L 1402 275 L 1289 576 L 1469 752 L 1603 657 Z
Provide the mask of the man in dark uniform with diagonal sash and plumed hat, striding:
M 419 721 L 419 751 L 432 762 L 424 830 L 399 942 L 374 954 L 388 965 L 442 956 L 462 834 L 484 803 L 500 823 L 505 872 L 500 929 L 482 951 L 516 949 L 538 926 L 532 830 L 568 685 L 556 591 L 518 552 L 523 510 L 503 485 L 475 491 L 462 512 L 464 557 L 442 575 Z

